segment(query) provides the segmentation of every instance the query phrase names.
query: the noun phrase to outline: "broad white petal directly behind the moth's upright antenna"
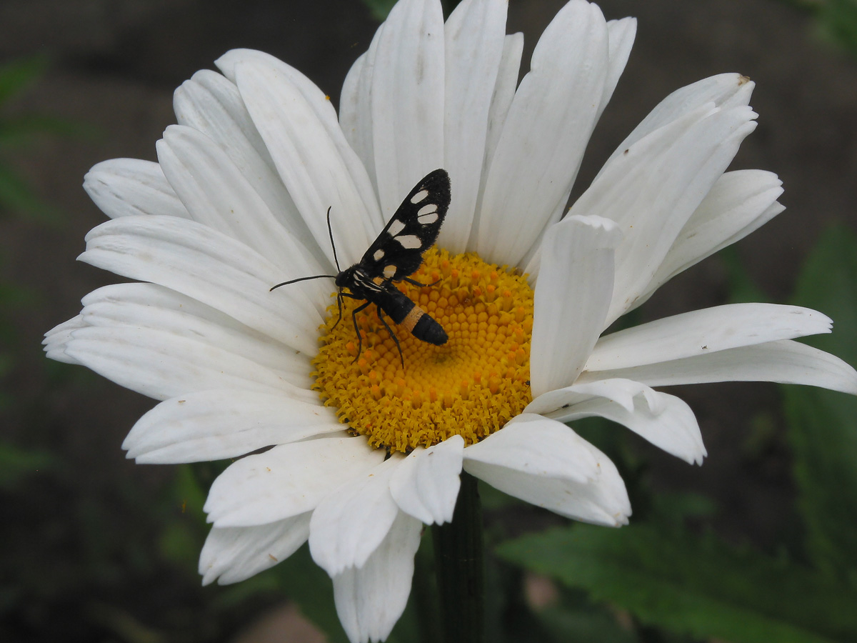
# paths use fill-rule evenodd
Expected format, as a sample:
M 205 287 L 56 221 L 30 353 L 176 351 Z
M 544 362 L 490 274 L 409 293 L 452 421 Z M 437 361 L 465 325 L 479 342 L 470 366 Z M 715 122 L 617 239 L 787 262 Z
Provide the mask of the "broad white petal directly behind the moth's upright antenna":
M 339 143 L 347 147 L 345 137 L 341 132 L 331 134 L 314 104 L 279 65 L 243 61 L 237 63 L 235 73 L 250 116 L 316 243 L 333 264 L 327 231 L 329 207 L 342 267 L 358 261 L 381 223 L 375 203 L 363 201 L 359 181 L 343 156 Z M 350 147 L 348 153 L 353 154 Z M 369 183 L 365 171 L 363 180 Z

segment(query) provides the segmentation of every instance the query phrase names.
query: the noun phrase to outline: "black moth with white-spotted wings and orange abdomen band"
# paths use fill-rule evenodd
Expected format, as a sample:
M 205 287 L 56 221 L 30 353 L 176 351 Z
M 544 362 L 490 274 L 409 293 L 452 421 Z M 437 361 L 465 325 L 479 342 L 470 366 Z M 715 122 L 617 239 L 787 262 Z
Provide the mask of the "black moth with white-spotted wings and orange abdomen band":
M 279 288 L 281 285 L 294 284 L 306 279 L 321 279 L 322 277 L 336 279 L 336 286 L 339 288 L 337 295 L 339 319 L 333 328 L 336 328 L 336 325 L 342 321 L 343 297 L 366 300 L 351 313 L 351 321 L 354 323 L 354 330 L 357 333 L 357 357 L 359 357 L 363 352 L 363 337 L 357 328 L 357 313 L 369 306 L 370 303 L 375 303 L 378 308 L 378 317 L 396 342 L 399 358 L 402 360 L 402 366 L 405 366 L 405 358 L 402 355 L 402 347 L 399 346 L 399 338 L 393 333 L 393 329 L 387 324 L 381 311 L 387 313 L 393 322 L 404 326 L 417 340 L 423 340 L 436 346 L 446 344 L 448 339 L 446 331 L 417 303 L 412 302 L 400 292 L 394 282 L 407 281 L 413 285 L 430 285 L 422 284 L 410 279 L 410 277 L 411 274 L 417 272 L 423 263 L 423 253 L 437 239 L 440 225 L 443 224 L 446 210 L 449 208 L 449 200 L 449 175 L 445 170 L 429 172 L 411 189 L 410 194 L 405 196 L 405 201 L 402 201 L 402 204 L 387 221 L 387 225 L 363 254 L 363 258 L 345 270 L 339 269 L 336 246 L 333 245 L 333 229 L 330 225 L 330 208 L 327 208 L 327 231 L 333 245 L 333 260 L 336 261 L 336 268 L 339 273 L 316 274 L 312 277 L 291 279 L 274 285 L 271 290 L 273 291 L 274 288 Z M 347 288 L 348 292 L 345 292 L 344 288 Z

